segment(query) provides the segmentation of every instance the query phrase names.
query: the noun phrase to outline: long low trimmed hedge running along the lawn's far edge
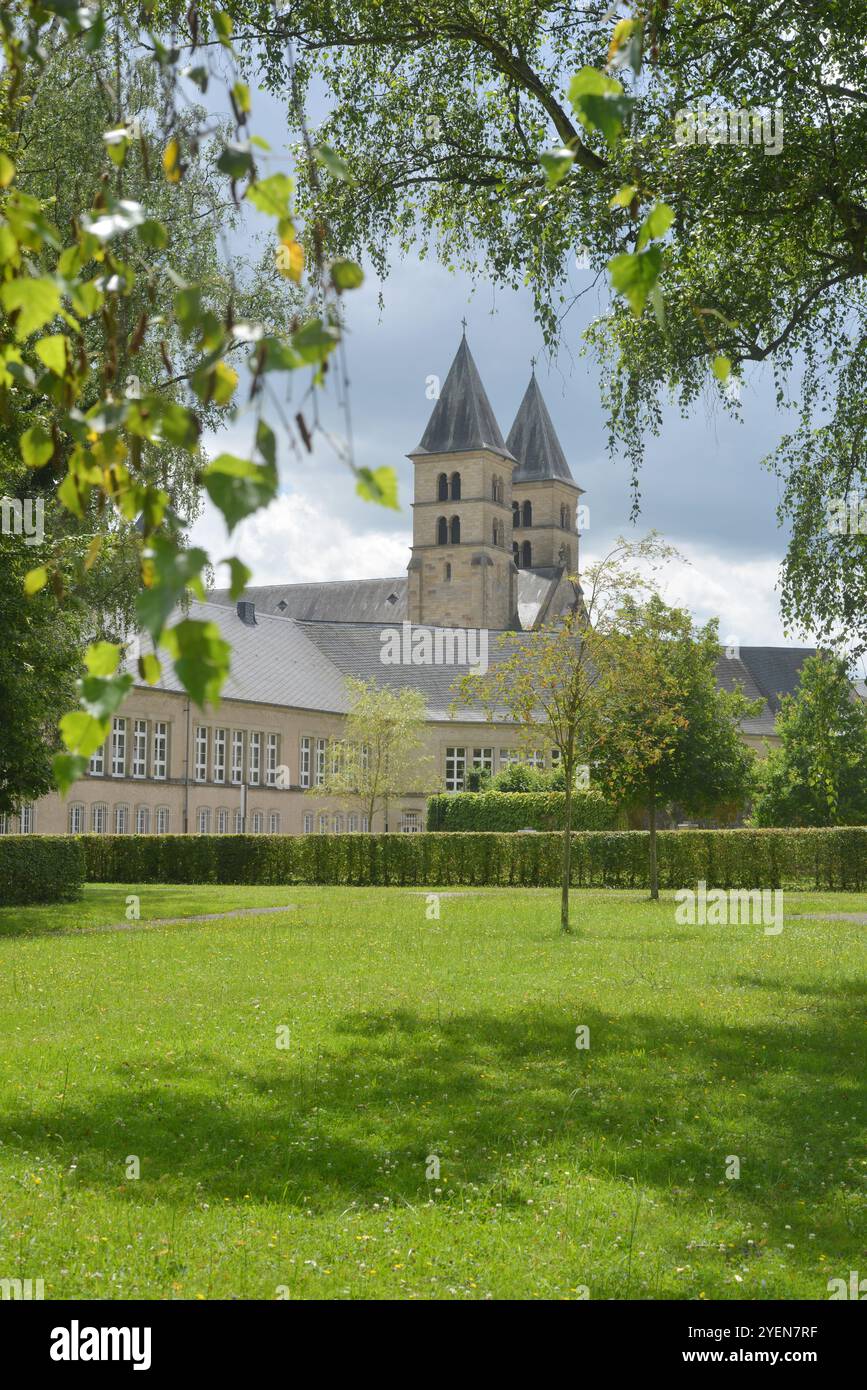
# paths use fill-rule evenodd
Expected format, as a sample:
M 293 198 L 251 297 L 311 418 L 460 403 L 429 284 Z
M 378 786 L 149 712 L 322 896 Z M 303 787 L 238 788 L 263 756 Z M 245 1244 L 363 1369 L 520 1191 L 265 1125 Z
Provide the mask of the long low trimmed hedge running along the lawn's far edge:
M 663 830 L 663 888 L 867 888 L 867 828 Z M 32 842 L 32 841 L 31 841 Z M 559 834 L 83 835 L 97 883 L 554 887 Z M 647 887 L 647 833 L 577 831 L 578 888 Z

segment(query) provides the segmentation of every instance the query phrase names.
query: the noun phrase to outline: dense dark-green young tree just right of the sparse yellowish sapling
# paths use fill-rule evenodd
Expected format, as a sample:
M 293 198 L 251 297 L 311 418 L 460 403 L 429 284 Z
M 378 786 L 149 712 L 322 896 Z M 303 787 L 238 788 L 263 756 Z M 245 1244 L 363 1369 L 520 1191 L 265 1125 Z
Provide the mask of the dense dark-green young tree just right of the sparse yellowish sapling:
M 718 655 L 716 619 L 696 628 L 656 594 L 642 603 L 627 596 L 607 645 L 597 770 L 613 801 L 647 812 L 654 899 L 660 806 L 699 812 L 748 794 L 754 755 L 739 723 L 761 702 L 717 687 Z

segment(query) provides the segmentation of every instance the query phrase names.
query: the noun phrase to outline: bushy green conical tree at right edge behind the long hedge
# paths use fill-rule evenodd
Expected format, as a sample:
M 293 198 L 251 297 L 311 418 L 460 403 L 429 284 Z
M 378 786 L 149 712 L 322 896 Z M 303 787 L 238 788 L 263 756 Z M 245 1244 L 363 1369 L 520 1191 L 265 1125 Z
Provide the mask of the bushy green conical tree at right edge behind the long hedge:
M 777 716 L 779 748 L 759 767 L 757 826 L 867 824 L 867 706 L 845 660 L 810 656 Z

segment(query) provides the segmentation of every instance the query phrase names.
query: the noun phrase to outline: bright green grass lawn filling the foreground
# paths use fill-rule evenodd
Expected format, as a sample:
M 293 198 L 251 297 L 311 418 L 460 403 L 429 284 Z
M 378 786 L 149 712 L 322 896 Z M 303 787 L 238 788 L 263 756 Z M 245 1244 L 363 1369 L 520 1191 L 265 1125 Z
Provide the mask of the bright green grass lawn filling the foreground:
M 128 894 L 133 930 L 81 930 L 124 923 Z M 793 915 L 867 895 L 785 910 L 774 937 L 579 892 L 561 938 L 547 890 L 443 895 L 439 920 L 370 888 L 1 909 L 0 1277 L 46 1298 L 827 1298 L 866 1268 L 867 929 Z

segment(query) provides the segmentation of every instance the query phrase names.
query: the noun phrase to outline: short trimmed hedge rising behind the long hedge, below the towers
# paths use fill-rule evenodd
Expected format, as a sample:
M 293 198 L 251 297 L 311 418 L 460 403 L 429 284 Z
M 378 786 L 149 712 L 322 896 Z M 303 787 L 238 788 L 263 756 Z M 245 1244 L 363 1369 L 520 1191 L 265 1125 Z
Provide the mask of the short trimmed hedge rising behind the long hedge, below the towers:
M 563 791 L 459 791 L 428 801 L 428 830 L 563 830 Z M 572 830 L 613 830 L 617 810 L 597 791 L 572 795 Z

